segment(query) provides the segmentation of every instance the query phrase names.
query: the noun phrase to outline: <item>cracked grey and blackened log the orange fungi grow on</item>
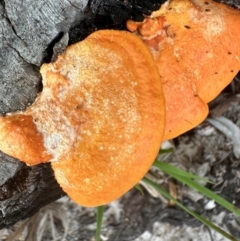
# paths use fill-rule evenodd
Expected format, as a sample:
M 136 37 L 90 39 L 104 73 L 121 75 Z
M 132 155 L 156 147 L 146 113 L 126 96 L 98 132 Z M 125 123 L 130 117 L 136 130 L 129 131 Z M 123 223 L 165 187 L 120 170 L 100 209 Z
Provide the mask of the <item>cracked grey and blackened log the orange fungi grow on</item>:
M 239 0 L 222 0 L 238 7 Z M 0 114 L 24 110 L 41 91 L 39 68 L 56 49 L 97 29 L 124 29 L 126 19 L 164 0 L 0 0 Z M 236 30 L 238 31 L 238 30 Z M 69 36 L 69 39 L 68 39 Z M 50 164 L 27 167 L 0 154 L 0 228 L 13 225 L 65 195 Z

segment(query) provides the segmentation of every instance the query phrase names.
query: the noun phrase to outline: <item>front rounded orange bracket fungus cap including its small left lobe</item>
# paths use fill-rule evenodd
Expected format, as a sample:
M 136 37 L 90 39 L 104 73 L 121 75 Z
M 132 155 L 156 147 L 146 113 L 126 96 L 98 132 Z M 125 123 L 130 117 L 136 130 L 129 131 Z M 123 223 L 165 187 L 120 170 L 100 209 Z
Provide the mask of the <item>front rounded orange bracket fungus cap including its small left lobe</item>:
M 52 161 L 78 204 L 119 198 L 148 171 L 164 134 L 165 102 L 148 48 L 131 33 L 98 31 L 41 74 L 36 102 L 0 118 L 0 149 L 30 165 Z

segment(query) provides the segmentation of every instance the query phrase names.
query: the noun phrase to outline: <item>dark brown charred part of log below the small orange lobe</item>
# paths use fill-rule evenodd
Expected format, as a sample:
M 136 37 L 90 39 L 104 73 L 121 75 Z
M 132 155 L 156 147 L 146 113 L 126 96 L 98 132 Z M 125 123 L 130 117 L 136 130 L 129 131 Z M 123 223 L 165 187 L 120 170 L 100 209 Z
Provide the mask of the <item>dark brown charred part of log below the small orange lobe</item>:
M 15 161 L 12 166 L 16 163 L 20 162 Z M 41 207 L 61 198 L 65 193 L 55 181 L 48 163 L 33 167 L 23 165 L 0 187 L 0 195 L 0 228 L 4 228 L 31 217 Z

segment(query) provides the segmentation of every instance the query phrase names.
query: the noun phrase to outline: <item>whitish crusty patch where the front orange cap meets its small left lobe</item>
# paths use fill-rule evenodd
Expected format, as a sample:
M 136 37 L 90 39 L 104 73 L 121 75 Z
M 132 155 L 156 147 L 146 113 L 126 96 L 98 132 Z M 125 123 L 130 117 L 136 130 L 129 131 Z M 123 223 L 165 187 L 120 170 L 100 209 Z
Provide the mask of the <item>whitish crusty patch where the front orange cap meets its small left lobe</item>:
M 31 109 L 35 125 L 44 136 L 44 146 L 53 155 L 52 161 L 66 153 L 77 139 L 66 110 L 58 102 L 49 101 L 53 96 L 50 88 L 45 87 L 40 101 Z M 47 113 L 47 114 L 46 114 Z

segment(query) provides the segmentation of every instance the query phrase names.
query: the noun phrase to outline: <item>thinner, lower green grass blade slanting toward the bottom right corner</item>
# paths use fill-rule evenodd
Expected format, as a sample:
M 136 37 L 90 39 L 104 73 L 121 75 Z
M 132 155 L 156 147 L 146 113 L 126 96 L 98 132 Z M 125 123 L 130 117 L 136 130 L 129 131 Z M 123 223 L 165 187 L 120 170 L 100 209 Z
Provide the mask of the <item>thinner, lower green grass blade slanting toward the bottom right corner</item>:
M 213 224 L 212 222 L 208 221 L 207 219 L 205 219 L 204 217 L 202 217 L 201 215 L 197 214 L 196 212 L 188 209 L 187 207 L 185 207 L 183 204 L 181 204 L 179 201 L 177 201 L 175 198 L 173 198 L 166 190 L 164 190 L 163 188 L 161 188 L 159 185 L 157 185 L 156 183 L 152 182 L 151 180 L 149 180 L 148 178 L 144 177 L 142 179 L 146 184 L 154 187 L 160 194 L 162 194 L 163 196 L 165 196 L 166 198 L 174 201 L 176 203 L 176 205 L 178 205 L 180 208 L 182 208 L 184 211 L 188 212 L 190 215 L 192 215 L 193 217 L 195 217 L 196 219 L 198 219 L 200 222 L 202 222 L 203 224 L 207 225 L 208 227 L 212 228 L 213 230 L 217 231 L 218 233 L 220 233 L 221 235 L 223 235 L 224 237 L 228 238 L 231 241 L 238 241 L 235 237 L 233 237 L 231 234 L 227 233 L 226 231 L 224 231 L 223 229 L 219 228 L 218 226 L 216 226 L 215 224 Z

